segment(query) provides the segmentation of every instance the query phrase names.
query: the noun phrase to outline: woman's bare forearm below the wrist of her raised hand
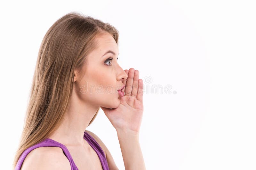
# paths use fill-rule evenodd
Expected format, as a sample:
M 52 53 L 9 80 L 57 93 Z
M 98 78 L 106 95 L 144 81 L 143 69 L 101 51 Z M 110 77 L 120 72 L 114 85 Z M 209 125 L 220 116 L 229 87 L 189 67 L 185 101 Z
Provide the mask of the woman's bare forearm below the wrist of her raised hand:
M 117 130 L 125 170 L 146 170 L 139 142 L 139 133 Z

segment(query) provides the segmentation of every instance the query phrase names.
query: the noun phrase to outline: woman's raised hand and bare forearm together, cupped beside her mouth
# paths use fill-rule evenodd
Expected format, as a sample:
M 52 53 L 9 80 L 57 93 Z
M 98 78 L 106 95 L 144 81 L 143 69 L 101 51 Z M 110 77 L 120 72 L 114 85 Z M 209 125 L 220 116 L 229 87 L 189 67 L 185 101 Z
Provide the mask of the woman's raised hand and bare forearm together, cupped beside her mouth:
M 125 94 L 117 108 L 101 107 L 116 128 L 125 170 L 146 170 L 139 143 L 139 130 L 143 115 L 143 81 L 139 71 L 131 68 L 126 80 Z

